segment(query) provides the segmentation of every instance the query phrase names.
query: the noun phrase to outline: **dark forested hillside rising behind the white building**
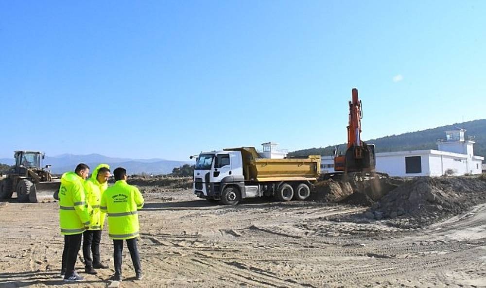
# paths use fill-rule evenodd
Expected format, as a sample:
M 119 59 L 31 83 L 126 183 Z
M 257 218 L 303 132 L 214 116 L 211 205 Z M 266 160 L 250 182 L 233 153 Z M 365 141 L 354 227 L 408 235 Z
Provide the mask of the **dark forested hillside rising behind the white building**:
M 376 152 L 394 152 L 411 150 L 437 149 L 437 139 L 445 137 L 446 130 L 457 128 L 466 129 L 466 136 L 474 136 L 474 155 L 486 157 L 486 119 L 455 123 L 452 125 L 426 129 L 417 132 L 409 132 L 400 135 L 385 136 L 381 138 L 365 140 L 368 144 L 375 144 Z M 322 155 L 329 156 L 334 153 L 334 148 L 339 146 L 339 151 L 346 151 L 346 144 L 336 144 L 328 147 L 310 148 L 290 152 L 289 156 Z

